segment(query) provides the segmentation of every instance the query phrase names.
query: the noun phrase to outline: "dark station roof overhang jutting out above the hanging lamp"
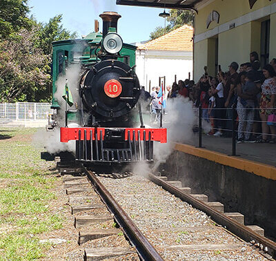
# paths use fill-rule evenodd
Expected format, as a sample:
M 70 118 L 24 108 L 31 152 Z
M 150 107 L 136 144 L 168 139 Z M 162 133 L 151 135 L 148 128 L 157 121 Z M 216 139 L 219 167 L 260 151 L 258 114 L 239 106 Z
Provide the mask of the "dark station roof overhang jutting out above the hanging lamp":
M 195 10 L 197 3 L 205 0 L 117 0 L 117 5 L 146 6 L 153 8 L 169 8 L 181 10 Z

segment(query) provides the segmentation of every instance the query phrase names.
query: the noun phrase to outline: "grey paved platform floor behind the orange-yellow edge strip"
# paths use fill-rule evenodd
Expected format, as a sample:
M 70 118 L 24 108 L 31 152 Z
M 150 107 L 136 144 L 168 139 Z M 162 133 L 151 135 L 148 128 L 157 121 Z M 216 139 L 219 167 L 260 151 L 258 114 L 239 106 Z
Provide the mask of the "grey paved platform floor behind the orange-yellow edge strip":
M 193 139 L 186 143 L 197 146 L 197 140 L 198 136 L 196 133 Z M 237 155 L 239 157 L 276 166 L 276 144 L 242 143 L 236 145 Z M 211 151 L 217 151 L 227 155 L 232 154 L 231 138 L 202 135 L 202 146 Z

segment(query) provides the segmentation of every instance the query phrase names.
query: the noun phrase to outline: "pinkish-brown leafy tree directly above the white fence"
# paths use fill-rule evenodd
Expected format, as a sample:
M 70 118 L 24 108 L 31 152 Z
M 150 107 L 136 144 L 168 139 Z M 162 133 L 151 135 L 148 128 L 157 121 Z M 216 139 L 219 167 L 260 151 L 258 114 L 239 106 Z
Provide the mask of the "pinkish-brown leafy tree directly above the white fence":
M 49 60 L 34 48 L 36 28 L 21 29 L 17 39 L 0 43 L 0 101 L 44 101 L 49 98 Z M 46 95 L 48 93 L 48 95 Z

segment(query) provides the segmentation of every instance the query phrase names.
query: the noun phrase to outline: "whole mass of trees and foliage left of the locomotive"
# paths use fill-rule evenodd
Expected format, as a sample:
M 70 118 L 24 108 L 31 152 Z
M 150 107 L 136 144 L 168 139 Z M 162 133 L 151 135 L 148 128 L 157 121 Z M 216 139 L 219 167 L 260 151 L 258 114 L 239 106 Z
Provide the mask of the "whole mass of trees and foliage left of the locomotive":
M 0 102 L 50 101 L 52 41 L 77 37 L 61 14 L 37 23 L 28 13 L 28 0 L 0 1 Z

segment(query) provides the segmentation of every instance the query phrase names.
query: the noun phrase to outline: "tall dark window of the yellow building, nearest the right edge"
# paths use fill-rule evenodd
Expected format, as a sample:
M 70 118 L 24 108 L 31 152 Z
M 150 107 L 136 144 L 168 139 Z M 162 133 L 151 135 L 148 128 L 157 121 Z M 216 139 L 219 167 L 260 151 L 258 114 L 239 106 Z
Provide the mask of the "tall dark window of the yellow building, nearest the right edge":
M 261 66 L 269 62 L 270 20 L 262 22 L 261 26 Z

